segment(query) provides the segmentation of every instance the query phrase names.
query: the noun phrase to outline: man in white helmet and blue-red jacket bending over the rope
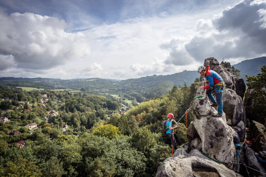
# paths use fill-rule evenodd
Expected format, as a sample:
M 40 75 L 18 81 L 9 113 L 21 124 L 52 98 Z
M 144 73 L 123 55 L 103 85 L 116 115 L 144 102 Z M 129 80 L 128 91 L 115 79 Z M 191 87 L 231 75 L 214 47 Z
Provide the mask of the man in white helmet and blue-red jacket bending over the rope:
M 200 66 L 198 68 L 198 73 L 200 75 L 205 76 L 207 79 L 205 87 L 203 85 L 200 86 L 201 89 L 207 89 L 206 94 L 208 95 L 209 99 L 212 101 L 212 107 L 218 108 L 218 114 L 215 114 L 214 117 L 222 117 L 222 90 L 225 87 L 225 83 L 222 80 L 222 77 L 215 71 L 210 70 L 210 66 Z M 214 92 L 215 98 L 212 96 Z

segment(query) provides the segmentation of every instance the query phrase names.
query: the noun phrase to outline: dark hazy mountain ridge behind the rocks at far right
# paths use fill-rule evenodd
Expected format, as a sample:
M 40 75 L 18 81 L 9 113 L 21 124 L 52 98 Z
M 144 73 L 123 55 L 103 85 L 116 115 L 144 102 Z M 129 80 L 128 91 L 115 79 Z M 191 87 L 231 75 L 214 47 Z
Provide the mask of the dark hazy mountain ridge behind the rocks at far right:
M 232 66 L 240 70 L 241 78 L 245 81 L 245 75 L 257 76 L 257 74 L 261 72 L 261 67 L 263 65 L 266 65 L 266 56 L 244 60 Z

